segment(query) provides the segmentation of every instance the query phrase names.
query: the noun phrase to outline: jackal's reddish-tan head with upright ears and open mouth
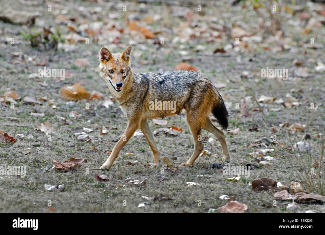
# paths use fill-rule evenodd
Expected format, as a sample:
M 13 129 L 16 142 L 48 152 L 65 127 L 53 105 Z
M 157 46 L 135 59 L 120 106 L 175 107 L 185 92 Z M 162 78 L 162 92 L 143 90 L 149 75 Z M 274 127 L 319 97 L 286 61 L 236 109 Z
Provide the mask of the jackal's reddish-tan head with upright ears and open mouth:
M 99 52 L 99 74 L 106 81 L 111 93 L 117 95 L 122 91 L 124 83 L 131 73 L 130 54 L 132 46 L 129 46 L 122 53 L 112 54 L 106 47 L 102 47 Z

